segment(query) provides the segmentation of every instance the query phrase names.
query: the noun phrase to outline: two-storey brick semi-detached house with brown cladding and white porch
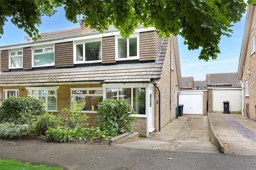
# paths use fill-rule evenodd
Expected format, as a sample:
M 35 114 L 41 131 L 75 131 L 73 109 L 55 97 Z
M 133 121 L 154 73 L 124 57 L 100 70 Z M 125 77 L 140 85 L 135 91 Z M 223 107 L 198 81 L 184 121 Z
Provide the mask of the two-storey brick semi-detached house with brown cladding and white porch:
M 2 46 L 0 91 L 41 99 L 48 112 L 81 107 L 94 124 L 103 99 L 121 98 L 137 114 L 134 131 L 149 136 L 175 118 L 181 69 L 177 37 L 139 27 L 130 38 L 110 28 L 42 33 L 31 43 Z

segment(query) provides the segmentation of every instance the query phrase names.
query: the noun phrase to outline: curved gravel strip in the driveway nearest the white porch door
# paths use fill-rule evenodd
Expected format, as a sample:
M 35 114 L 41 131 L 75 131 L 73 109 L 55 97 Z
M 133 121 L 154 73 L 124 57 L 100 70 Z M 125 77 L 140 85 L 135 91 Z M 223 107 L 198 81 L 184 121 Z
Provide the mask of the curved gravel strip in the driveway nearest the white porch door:
M 182 129 L 180 130 L 180 132 L 174 138 L 174 140 L 172 140 L 169 143 L 164 143 L 162 145 L 153 147 L 152 149 L 157 149 L 157 150 L 173 150 L 173 149 L 175 149 L 176 147 L 181 145 L 182 142 L 179 142 L 179 141 L 187 139 L 189 133 L 191 132 L 191 127 L 192 127 L 192 123 L 191 123 L 191 118 L 189 117 L 188 120 L 182 126 Z

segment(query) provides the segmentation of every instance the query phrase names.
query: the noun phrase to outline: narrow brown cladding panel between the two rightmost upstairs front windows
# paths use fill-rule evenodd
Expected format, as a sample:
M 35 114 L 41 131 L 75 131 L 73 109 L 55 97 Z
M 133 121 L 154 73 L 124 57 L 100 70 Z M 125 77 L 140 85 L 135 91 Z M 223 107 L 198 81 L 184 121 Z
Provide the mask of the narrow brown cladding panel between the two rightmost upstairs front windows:
M 116 63 L 115 36 L 102 37 L 102 63 Z

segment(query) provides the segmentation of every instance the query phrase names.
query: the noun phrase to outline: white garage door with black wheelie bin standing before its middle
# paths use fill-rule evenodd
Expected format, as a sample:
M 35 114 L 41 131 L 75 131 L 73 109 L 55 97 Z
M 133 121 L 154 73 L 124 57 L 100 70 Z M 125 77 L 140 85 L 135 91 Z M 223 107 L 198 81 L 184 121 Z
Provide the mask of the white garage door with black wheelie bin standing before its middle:
M 229 101 L 229 111 L 241 111 L 242 103 L 241 90 L 221 90 L 213 89 L 213 111 L 223 112 L 223 101 Z

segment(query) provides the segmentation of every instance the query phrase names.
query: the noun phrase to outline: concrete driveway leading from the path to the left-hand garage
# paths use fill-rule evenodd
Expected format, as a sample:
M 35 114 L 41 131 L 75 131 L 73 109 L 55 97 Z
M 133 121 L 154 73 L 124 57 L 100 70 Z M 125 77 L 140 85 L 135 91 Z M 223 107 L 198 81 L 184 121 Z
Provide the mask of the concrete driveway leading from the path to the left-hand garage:
M 158 149 L 188 152 L 218 153 L 210 141 L 206 115 L 184 115 L 166 125 L 150 138 L 123 143 L 121 147 Z

